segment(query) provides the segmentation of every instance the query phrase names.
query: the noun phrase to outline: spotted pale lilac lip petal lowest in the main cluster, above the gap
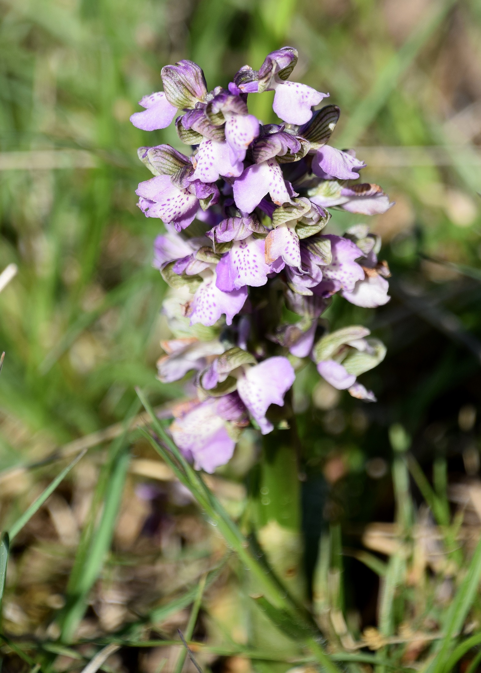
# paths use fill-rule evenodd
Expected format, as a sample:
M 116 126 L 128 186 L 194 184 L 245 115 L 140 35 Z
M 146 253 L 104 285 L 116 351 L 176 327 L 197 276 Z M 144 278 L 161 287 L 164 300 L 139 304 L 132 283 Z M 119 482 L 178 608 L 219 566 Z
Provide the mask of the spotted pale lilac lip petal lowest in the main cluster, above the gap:
M 195 292 L 191 304 L 191 325 L 200 322 L 210 327 L 219 320 L 223 313 L 226 314 L 226 323 L 230 325 L 232 318 L 243 308 L 246 299 L 247 287 L 241 287 L 233 292 L 223 292 L 216 287 L 214 275 L 203 281 Z

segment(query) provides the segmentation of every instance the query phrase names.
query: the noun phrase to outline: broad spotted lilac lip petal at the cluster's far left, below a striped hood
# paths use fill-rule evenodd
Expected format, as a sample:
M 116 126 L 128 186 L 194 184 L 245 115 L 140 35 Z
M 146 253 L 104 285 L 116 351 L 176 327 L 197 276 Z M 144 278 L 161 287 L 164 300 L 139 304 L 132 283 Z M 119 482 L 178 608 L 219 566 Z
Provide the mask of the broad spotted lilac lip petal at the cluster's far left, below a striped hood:
M 174 186 L 168 175 L 141 182 L 135 193 L 147 201 L 139 201 L 139 207 L 147 217 L 160 217 L 166 223 L 172 222 L 178 231 L 188 227 L 197 213 L 199 200 L 187 190 Z

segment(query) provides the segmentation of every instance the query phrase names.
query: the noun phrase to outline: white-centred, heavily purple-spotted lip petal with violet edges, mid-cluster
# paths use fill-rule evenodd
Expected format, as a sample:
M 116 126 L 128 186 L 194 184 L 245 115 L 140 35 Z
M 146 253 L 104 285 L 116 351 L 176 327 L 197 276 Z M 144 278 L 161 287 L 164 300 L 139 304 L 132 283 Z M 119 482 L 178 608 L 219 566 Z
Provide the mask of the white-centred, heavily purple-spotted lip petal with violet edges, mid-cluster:
M 241 241 L 234 241 L 232 248 L 221 259 L 221 262 L 224 265 L 228 264 L 229 267 L 226 272 L 223 265 L 222 273 L 224 277 L 222 277 L 222 280 L 220 280 L 217 271 L 220 262 L 217 265 L 217 287 L 225 290 L 226 287 L 230 287 L 230 282 L 232 282 L 234 289 L 239 289 L 244 285 L 250 285 L 251 287 L 265 285 L 267 274 L 271 270 L 265 263 L 264 245 L 262 238 L 249 237 Z M 228 281 L 225 280 L 226 277 Z

